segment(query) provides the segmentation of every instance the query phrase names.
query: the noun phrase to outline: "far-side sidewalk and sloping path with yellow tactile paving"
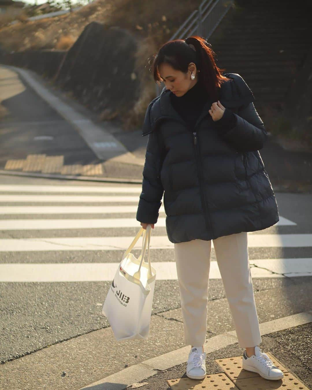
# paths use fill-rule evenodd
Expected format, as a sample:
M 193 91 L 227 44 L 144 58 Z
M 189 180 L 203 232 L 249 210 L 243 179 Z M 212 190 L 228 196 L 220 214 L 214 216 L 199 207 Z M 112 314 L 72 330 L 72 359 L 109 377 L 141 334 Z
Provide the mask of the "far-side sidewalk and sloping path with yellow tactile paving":
M 65 92 L 52 89 L 34 72 L 0 66 L 2 121 L 0 169 L 41 177 L 123 178 L 142 180 L 147 138 L 131 132 L 134 154 L 115 135 L 115 122 L 96 115 Z M 139 134 L 140 133 L 140 134 Z

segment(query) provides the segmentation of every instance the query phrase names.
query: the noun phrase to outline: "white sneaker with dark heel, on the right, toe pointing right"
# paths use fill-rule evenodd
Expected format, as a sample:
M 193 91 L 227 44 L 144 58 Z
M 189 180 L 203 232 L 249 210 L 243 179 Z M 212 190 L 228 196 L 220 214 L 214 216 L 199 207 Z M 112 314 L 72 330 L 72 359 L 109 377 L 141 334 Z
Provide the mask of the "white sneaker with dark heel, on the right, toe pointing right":
M 284 378 L 283 372 L 278 369 L 269 356 L 261 352 L 258 346 L 255 346 L 255 355 L 248 358 L 246 350 L 243 353 L 243 369 L 246 371 L 257 372 L 262 378 L 272 381 Z

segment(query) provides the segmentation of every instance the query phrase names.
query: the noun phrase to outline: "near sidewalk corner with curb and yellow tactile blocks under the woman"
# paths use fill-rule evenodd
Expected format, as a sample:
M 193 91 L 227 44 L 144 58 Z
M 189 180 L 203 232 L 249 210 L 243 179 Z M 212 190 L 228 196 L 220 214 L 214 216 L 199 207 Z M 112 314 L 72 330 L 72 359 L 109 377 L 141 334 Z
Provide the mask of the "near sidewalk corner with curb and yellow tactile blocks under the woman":
M 207 376 L 204 379 L 195 380 L 186 376 L 186 359 L 190 351 L 190 347 L 186 346 L 132 365 L 81 390 L 188 390 L 204 387 L 218 390 L 311 389 L 312 311 L 262 323 L 260 329 L 262 352 L 266 352 L 284 373 L 284 378 L 278 381 L 269 381 L 255 372 L 242 369 L 243 349 L 235 342 L 236 332 L 232 331 L 206 339 Z M 306 342 L 300 343 L 300 340 Z

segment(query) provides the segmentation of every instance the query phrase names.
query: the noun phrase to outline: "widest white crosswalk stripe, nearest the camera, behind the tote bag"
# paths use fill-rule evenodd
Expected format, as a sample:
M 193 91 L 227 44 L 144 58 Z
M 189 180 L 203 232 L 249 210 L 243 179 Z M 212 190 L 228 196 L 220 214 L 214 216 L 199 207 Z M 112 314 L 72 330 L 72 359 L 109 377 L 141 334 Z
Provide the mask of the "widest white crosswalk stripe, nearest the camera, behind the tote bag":
M 152 262 L 156 280 L 177 280 L 176 262 Z M 277 278 L 311 275 L 311 258 L 250 260 L 252 277 Z M 117 263 L 0 264 L 0 282 L 101 282 L 112 281 Z M 258 268 L 262 267 L 262 268 Z M 264 269 L 265 268 L 265 269 Z M 209 279 L 220 279 L 211 261 Z

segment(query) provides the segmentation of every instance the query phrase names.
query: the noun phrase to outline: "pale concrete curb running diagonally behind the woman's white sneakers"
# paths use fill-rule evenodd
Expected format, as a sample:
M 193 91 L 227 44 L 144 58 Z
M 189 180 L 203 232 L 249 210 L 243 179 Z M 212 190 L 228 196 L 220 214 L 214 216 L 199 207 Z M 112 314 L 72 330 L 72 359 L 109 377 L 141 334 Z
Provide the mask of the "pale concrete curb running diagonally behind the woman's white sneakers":
M 301 312 L 288 317 L 282 317 L 260 324 L 261 335 L 279 332 L 281 330 L 293 328 L 312 322 L 312 311 Z M 209 354 L 218 349 L 228 347 L 238 342 L 236 331 L 225 332 L 220 335 L 210 337 L 204 344 L 204 351 Z M 177 349 L 145 360 L 124 370 L 116 372 L 97 382 L 91 383 L 79 390 L 96 388 L 97 390 L 124 390 L 133 383 L 138 383 L 150 376 L 158 374 L 159 371 L 168 370 L 176 365 L 186 363 L 190 346 Z

